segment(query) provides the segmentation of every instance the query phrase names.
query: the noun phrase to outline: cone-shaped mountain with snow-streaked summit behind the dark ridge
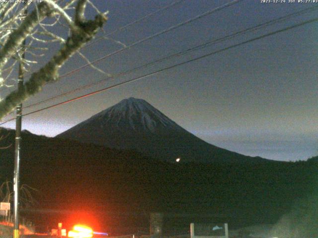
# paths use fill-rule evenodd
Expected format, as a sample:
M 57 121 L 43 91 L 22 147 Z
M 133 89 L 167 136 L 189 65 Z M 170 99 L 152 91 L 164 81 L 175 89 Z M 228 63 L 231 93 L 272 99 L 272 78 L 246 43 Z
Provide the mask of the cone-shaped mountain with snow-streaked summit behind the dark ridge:
M 106 147 L 135 150 L 154 159 L 175 162 L 263 162 L 214 145 L 188 132 L 143 99 L 124 99 L 57 135 Z

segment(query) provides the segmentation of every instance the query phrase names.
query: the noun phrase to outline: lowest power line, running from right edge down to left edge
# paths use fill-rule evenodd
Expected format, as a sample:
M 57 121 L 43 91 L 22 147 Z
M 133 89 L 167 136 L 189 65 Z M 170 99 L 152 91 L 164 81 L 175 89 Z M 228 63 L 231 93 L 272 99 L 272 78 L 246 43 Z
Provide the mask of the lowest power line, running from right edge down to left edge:
M 268 37 L 268 36 L 272 36 L 272 35 L 275 35 L 275 34 L 277 34 L 277 33 L 281 33 L 281 32 L 284 32 L 284 31 L 288 31 L 288 30 L 291 30 L 291 29 L 293 29 L 293 28 L 300 27 L 300 26 L 303 26 L 303 25 L 305 25 L 305 24 L 309 24 L 309 23 L 316 22 L 316 21 L 318 21 L 318 18 L 314 18 L 314 19 L 311 19 L 311 20 L 308 20 L 308 21 L 304 21 L 304 22 L 301 22 L 301 23 L 298 23 L 298 24 L 295 24 L 295 25 L 292 25 L 292 26 L 289 26 L 289 27 L 286 27 L 286 28 L 283 28 L 283 29 L 280 29 L 280 30 L 271 32 L 271 33 L 267 33 L 267 34 L 261 35 L 261 36 L 259 36 L 259 37 L 252 38 L 252 39 L 247 40 L 247 41 L 243 41 L 243 42 L 238 43 L 238 44 L 234 44 L 234 45 L 229 46 L 229 47 L 225 47 L 225 48 L 223 48 L 223 49 L 221 49 L 221 50 L 217 50 L 217 51 L 211 52 L 211 53 L 209 53 L 209 54 L 206 54 L 206 55 L 203 55 L 203 56 L 200 56 L 200 57 L 191 59 L 191 60 L 186 60 L 186 61 L 183 61 L 183 62 L 180 62 L 180 63 L 177 63 L 177 64 L 173 64 L 173 65 L 168 66 L 168 67 L 164 67 L 164 68 L 162 68 L 162 69 L 159 69 L 159 70 L 156 70 L 156 71 L 154 71 L 154 72 L 145 74 L 145 75 L 143 75 L 143 76 L 139 76 L 139 77 L 136 77 L 136 78 L 133 78 L 133 79 L 130 79 L 130 80 L 121 82 L 121 83 L 117 83 L 117 84 L 114 84 L 114 85 L 112 85 L 112 86 L 108 86 L 108 87 L 99 89 L 99 90 L 97 90 L 97 91 L 94 91 L 94 92 L 91 92 L 91 93 L 88 93 L 88 94 L 85 94 L 85 95 L 82 95 L 82 96 L 79 96 L 79 97 L 76 97 L 76 98 L 73 98 L 73 99 L 70 99 L 70 100 L 61 102 L 61 103 L 57 103 L 57 104 L 54 104 L 54 105 L 51 105 L 51 106 L 48 106 L 48 107 L 45 107 L 45 108 L 42 108 L 42 109 L 39 109 L 39 110 L 30 112 L 30 113 L 24 114 L 23 116 L 28 116 L 28 115 L 31 115 L 31 114 L 34 114 L 34 113 L 37 113 L 37 112 L 41 112 L 41 111 L 44 111 L 44 110 L 47 110 L 47 109 L 50 109 L 50 108 L 54 108 L 54 107 L 57 107 L 57 106 L 60 106 L 60 105 L 63 105 L 63 104 L 67 104 L 67 103 L 73 102 L 73 101 L 76 101 L 76 100 L 79 100 L 79 99 L 82 99 L 82 98 L 86 98 L 86 97 L 88 97 L 88 96 L 95 95 L 95 94 L 97 94 L 97 93 L 106 91 L 106 90 L 108 90 L 108 89 L 112 89 L 112 88 L 115 88 L 115 87 L 118 87 L 118 86 L 121 86 L 121 85 L 130 83 L 130 82 L 133 82 L 133 81 L 137 81 L 137 80 L 139 80 L 139 79 L 143 79 L 143 78 L 146 78 L 146 77 L 155 75 L 155 74 L 157 74 L 157 73 L 159 73 L 159 72 L 162 72 L 162 71 L 165 71 L 165 70 L 168 70 L 168 69 L 171 69 L 171 68 L 174 68 L 174 67 L 177 67 L 177 66 L 186 64 L 186 63 L 190 63 L 190 62 L 193 62 L 193 61 L 196 61 L 196 60 L 201 60 L 201 59 L 204 59 L 204 58 L 206 58 L 206 57 L 209 57 L 209 56 L 212 56 L 212 55 L 215 55 L 215 54 L 218 54 L 218 53 L 221 53 L 221 52 L 224 52 L 224 51 L 227 51 L 227 50 L 230 50 L 230 49 L 233 49 L 233 48 L 242 46 L 242 45 L 245 45 L 245 44 L 247 44 L 247 43 L 250 43 L 250 42 L 253 42 L 253 41 L 256 41 L 256 40 L 259 40 L 259 39 Z M 6 121 L 3 121 L 2 123 L 0 123 L 0 125 L 2 125 L 2 124 L 4 124 L 4 123 L 7 123 L 8 121 L 14 120 L 14 119 L 15 119 L 15 118 L 12 118 L 12 119 L 8 119 L 8 120 L 6 120 Z

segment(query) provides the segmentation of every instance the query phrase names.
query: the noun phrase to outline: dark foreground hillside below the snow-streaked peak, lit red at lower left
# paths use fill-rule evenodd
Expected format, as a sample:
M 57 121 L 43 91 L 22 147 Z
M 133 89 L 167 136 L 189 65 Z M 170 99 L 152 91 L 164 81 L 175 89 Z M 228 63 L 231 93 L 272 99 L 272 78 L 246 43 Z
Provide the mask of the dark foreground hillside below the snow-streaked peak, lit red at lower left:
M 12 130 L 0 146 L 10 143 Z M 0 150 L 2 180 L 13 177 L 13 152 L 13 146 Z M 308 162 L 172 164 L 133 151 L 23 133 L 20 171 L 21 183 L 38 190 L 32 209 L 43 212 L 23 214 L 37 225 L 69 221 L 69 211 L 80 210 L 91 212 L 107 231 L 133 232 L 149 228 L 150 211 L 222 215 L 232 228 L 274 223 L 296 198 L 316 189 L 318 167 Z M 178 222 L 187 230 L 189 219 Z

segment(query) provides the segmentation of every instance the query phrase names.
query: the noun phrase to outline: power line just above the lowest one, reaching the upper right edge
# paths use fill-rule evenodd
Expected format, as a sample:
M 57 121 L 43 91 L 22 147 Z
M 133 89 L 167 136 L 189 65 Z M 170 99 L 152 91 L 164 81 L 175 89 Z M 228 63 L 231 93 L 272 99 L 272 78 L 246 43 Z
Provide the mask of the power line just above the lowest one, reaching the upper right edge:
M 111 77 L 106 77 L 106 78 L 101 79 L 101 80 L 99 80 L 99 81 L 97 81 L 97 82 L 90 83 L 90 84 L 81 86 L 81 87 L 79 87 L 79 88 L 70 90 L 70 91 L 68 91 L 68 92 L 62 93 L 62 94 L 60 94 L 60 95 L 57 95 L 57 96 L 48 98 L 48 99 L 46 99 L 46 100 L 43 100 L 43 101 L 40 101 L 40 102 L 31 104 L 31 105 L 25 106 L 24 108 L 30 108 L 30 107 L 38 106 L 38 105 L 40 105 L 40 104 L 43 104 L 43 103 L 52 101 L 52 100 L 54 100 L 54 99 L 57 99 L 57 98 L 60 98 L 60 97 L 64 97 L 64 96 L 66 96 L 66 95 L 68 95 L 68 94 L 72 94 L 72 93 L 75 93 L 75 92 L 77 92 L 77 91 L 81 91 L 81 90 L 83 90 L 83 89 L 86 89 L 86 88 L 89 88 L 89 87 L 92 87 L 92 86 L 96 86 L 96 85 L 98 85 L 98 84 L 100 84 L 100 83 L 103 83 L 103 82 L 107 81 L 108 79 L 113 79 L 113 78 L 117 78 L 117 77 L 120 77 L 120 76 L 127 75 L 128 73 L 137 71 L 137 70 L 142 69 L 142 68 L 146 68 L 146 67 L 148 67 L 148 66 L 150 66 L 150 65 L 154 65 L 155 63 L 162 62 L 162 61 L 164 61 L 164 60 L 169 60 L 169 59 L 171 59 L 171 58 L 173 58 L 173 57 L 182 56 L 182 55 L 188 54 L 188 53 L 190 53 L 190 52 L 193 52 L 193 51 L 200 50 L 200 49 L 203 49 L 203 48 L 205 48 L 205 47 L 211 46 L 211 45 L 213 45 L 213 44 L 220 43 L 220 42 L 223 42 L 223 41 L 225 41 L 225 40 L 233 39 L 233 38 L 235 38 L 235 37 L 237 37 L 237 36 L 239 36 L 239 35 L 246 34 L 246 33 L 250 33 L 250 32 L 259 30 L 259 29 L 261 29 L 261 28 L 264 28 L 264 27 L 267 27 L 267 26 L 270 26 L 270 25 L 273 25 L 273 24 L 282 22 L 282 21 L 284 21 L 284 20 L 286 20 L 286 19 L 289 19 L 290 17 L 297 16 L 297 15 L 301 15 L 301 14 L 304 14 L 304 13 L 308 13 L 308 12 L 311 12 L 311 11 L 314 11 L 314 10 L 317 10 L 317 9 L 318 9 L 318 6 L 309 7 L 309 8 L 306 8 L 306 9 L 303 9 L 303 10 L 300 10 L 300 11 L 297 11 L 297 12 L 294 12 L 294 13 L 291 13 L 291 14 L 288 14 L 288 15 L 285 15 L 285 16 L 282 16 L 282 17 L 279 17 L 279 18 L 270 20 L 270 21 L 267 21 L 267 22 L 265 22 L 265 23 L 261 23 L 261 24 L 259 24 L 259 25 L 254 26 L 254 27 L 250 27 L 250 28 L 247 28 L 247 29 L 244 29 L 244 30 L 235 32 L 235 33 L 233 33 L 233 34 L 224 36 L 224 37 L 222 37 L 222 38 L 211 39 L 211 40 L 207 41 L 206 43 L 200 44 L 200 45 L 198 45 L 198 46 L 195 46 L 195 47 L 192 47 L 192 48 L 189 48 L 189 49 L 186 49 L 186 50 L 183 50 L 183 51 L 174 53 L 174 54 L 172 54 L 172 55 L 169 55 L 169 56 L 160 58 L 160 59 L 158 59 L 158 60 L 155 60 L 155 61 L 152 61 L 152 62 L 143 64 L 143 65 L 140 65 L 140 66 L 135 67 L 135 68 L 133 68 L 133 69 L 129 69 L 129 70 L 126 70 L 126 71 L 124 71 L 124 72 L 115 74 L 115 75 L 113 75 L 113 76 L 111 76 Z

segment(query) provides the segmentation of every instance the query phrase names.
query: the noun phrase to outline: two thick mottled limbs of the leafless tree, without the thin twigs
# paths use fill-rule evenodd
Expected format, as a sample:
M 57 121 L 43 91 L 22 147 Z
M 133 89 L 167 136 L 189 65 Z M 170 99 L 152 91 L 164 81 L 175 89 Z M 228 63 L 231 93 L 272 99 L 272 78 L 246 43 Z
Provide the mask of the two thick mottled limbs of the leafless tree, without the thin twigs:
M 46 0 L 50 2 L 50 0 Z M 76 9 L 83 10 L 85 0 L 79 0 Z M 54 8 L 56 10 L 56 8 Z M 38 16 L 36 11 L 33 11 L 27 16 L 21 26 L 16 30 L 14 37 L 11 37 L 7 44 L 1 49 L 0 52 L 0 68 L 7 61 L 7 57 L 11 57 L 15 53 L 15 47 L 19 46 L 23 39 L 31 33 L 35 25 L 38 23 Z M 50 5 L 41 4 L 38 8 L 39 19 L 42 19 L 46 14 L 51 12 Z M 77 14 L 77 13 L 76 13 Z M 49 60 L 39 71 L 32 73 L 29 80 L 24 83 L 22 90 L 15 90 L 7 95 L 2 101 L 0 101 L 0 118 L 10 113 L 16 105 L 22 103 L 30 96 L 39 92 L 42 86 L 49 82 L 54 82 L 59 78 L 60 67 L 75 53 L 79 51 L 81 47 L 90 41 L 97 33 L 107 17 L 104 14 L 98 14 L 94 20 L 85 20 L 80 14 L 76 21 L 75 27 L 71 31 L 71 36 L 66 40 L 62 48 Z M 73 22 L 73 21 L 72 21 Z M 73 24 L 73 23 L 72 23 Z M 25 29 L 27 27 L 27 29 Z M 12 41 L 12 42 L 10 42 Z M 15 47 L 14 47 L 15 46 Z

